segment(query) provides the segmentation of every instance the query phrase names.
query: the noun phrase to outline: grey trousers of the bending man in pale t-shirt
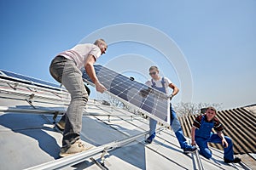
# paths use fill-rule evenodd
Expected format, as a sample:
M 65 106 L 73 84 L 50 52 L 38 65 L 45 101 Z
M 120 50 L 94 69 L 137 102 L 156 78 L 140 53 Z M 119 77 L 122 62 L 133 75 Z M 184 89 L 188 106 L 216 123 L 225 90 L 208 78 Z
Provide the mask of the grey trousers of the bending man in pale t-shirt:
M 80 139 L 82 114 L 88 100 L 88 94 L 84 88 L 82 72 L 73 60 L 66 59 L 60 55 L 56 56 L 49 65 L 49 72 L 71 94 L 71 102 L 67 108 L 66 126 L 62 139 L 62 147 L 69 147 Z

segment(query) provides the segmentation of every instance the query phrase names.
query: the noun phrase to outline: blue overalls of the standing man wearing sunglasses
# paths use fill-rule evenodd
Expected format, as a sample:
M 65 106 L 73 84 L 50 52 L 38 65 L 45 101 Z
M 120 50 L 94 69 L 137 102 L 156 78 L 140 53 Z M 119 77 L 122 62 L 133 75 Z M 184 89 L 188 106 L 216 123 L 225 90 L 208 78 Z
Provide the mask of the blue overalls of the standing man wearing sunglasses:
M 165 83 L 166 82 L 164 80 L 164 77 L 161 80 L 161 83 L 162 83 L 161 88 L 158 88 L 158 87 L 155 86 L 155 82 L 153 82 L 153 79 L 151 79 L 151 82 L 152 82 L 152 88 L 157 89 L 157 90 L 166 94 L 166 88 L 165 88 Z M 186 139 L 184 138 L 183 130 L 182 130 L 182 128 L 180 126 L 180 123 L 177 119 L 175 111 L 172 109 L 172 105 L 170 105 L 170 114 L 171 114 L 171 127 L 172 127 L 172 130 L 174 131 L 174 133 L 176 135 L 176 138 L 177 138 L 177 140 L 180 144 L 180 147 L 182 149 L 191 147 L 189 144 L 187 144 Z M 155 135 L 156 124 L 157 124 L 157 121 L 155 121 L 152 118 L 149 119 L 149 128 L 150 128 L 149 129 L 149 136 Z

